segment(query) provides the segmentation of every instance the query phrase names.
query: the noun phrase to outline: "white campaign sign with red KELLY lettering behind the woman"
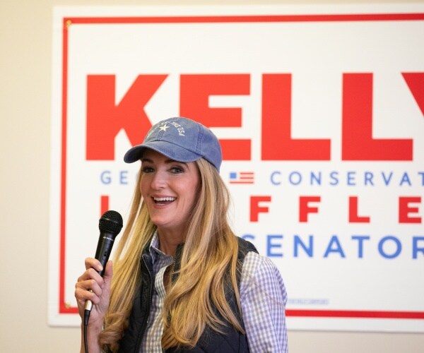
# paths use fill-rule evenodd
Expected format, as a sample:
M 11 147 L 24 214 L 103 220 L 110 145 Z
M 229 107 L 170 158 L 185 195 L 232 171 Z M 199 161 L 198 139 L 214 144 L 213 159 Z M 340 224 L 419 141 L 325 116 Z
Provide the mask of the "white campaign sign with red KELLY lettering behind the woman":
M 125 225 L 124 152 L 186 116 L 289 330 L 424 332 L 423 43 L 423 4 L 55 8 L 49 323 L 80 323 L 102 213 Z

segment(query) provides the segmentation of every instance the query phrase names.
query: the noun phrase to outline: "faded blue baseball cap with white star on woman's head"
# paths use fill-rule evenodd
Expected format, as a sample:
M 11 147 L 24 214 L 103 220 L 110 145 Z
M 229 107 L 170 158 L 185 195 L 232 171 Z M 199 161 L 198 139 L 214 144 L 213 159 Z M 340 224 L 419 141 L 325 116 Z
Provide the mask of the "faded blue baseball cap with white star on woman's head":
M 223 154 L 218 138 L 197 121 L 175 117 L 159 121 L 148 131 L 141 145 L 130 148 L 124 162 L 133 163 L 151 148 L 177 162 L 194 162 L 204 158 L 219 172 Z

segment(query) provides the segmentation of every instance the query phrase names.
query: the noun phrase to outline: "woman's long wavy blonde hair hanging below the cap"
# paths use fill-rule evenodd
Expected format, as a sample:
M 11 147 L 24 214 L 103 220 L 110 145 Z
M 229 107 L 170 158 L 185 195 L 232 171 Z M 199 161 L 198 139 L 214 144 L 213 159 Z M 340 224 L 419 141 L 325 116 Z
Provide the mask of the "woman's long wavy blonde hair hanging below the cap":
M 200 159 L 195 163 L 201 177 L 199 199 L 184 236 L 177 280 L 165 295 L 163 349 L 194 347 L 206 325 L 223 332 L 224 325 L 230 323 L 243 332 L 236 313 L 225 298 L 225 285 L 231 285 L 241 313 L 237 288 L 238 244 L 227 219 L 230 194 L 218 171 L 209 162 Z M 141 198 L 140 179 L 141 173 L 129 221 L 114 255 L 110 306 L 105 316 L 105 330 L 100 334 L 100 344 L 112 352 L 118 350 L 119 340 L 128 326 L 140 278 L 141 251 L 155 232 L 155 225 Z

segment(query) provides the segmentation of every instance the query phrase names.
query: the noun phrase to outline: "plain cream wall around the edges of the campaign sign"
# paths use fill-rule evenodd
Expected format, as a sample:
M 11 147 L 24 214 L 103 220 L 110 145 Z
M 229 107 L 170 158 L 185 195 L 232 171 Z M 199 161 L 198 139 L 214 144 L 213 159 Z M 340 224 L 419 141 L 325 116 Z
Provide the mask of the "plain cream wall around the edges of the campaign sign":
M 265 2 L 347 1 L 0 0 L 0 352 L 79 349 L 78 328 L 47 325 L 53 6 Z M 289 342 L 292 353 L 424 352 L 424 334 L 300 332 L 289 328 Z

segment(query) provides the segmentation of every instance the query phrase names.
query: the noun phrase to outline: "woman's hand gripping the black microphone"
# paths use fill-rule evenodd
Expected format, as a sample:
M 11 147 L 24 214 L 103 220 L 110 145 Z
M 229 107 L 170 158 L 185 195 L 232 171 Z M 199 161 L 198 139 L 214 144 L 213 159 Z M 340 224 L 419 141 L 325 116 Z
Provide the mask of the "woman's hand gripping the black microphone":
M 86 258 L 86 272 L 78 277 L 75 285 L 75 297 L 78 304 L 78 312 L 81 319 L 84 318 L 86 301 L 93 303 L 88 325 L 102 328 L 103 318 L 110 301 L 110 282 L 112 280 L 112 261 L 108 261 L 105 268 L 105 275 L 101 277 L 98 271 L 102 270 L 102 264 L 95 258 Z

